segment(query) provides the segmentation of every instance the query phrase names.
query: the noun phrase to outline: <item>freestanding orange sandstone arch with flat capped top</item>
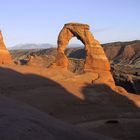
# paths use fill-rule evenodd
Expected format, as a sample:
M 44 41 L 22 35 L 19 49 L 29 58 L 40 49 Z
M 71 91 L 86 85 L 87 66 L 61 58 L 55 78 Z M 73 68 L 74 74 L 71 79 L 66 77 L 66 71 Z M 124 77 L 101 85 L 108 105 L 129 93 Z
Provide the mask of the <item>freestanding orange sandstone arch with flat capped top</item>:
M 77 37 L 77 39 L 81 40 L 85 46 L 86 61 L 84 70 L 110 70 L 110 64 L 104 50 L 100 43 L 94 39 L 89 28 L 89 25 L 81 23 L 67 23 L 64 25 L 57 41 L 57 66 L 68 66 L 68 59 L 65 56 L 64 50 L 66 49 L 70 39 L 72 37 Z

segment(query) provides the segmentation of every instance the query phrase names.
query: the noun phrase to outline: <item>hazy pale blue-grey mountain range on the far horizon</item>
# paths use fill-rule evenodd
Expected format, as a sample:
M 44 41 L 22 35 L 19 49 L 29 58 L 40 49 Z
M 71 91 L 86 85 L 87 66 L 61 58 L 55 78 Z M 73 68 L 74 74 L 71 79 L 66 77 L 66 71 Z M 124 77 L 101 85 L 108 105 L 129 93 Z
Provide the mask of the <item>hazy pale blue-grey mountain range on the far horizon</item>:
M 9 50 L 32 50 L 32 49 L 48 49 L 48 48 L 56 48 L 56 45 L 49 44 L 49 43 L 44 43 L 44 44 L 34 44 L 34 43 L 29 43 L 29 44 L 18 44 L 12 47 L 9 47 Z M 70 44 L 68 45 L 70 48 L 75 48 L 75 47 L 82 47 L 80 44 Z

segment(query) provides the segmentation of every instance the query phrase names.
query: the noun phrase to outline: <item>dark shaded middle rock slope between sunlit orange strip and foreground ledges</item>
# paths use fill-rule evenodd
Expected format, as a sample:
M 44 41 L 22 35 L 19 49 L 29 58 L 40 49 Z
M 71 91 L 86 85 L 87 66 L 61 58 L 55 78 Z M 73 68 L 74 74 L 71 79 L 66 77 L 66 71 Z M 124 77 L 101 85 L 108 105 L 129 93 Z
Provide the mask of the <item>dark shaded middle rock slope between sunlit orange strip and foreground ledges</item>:
M 81 100 L 59 83 L 39 75 L 22 74 L 2 67 L 0 75 L 0 94 L 67 122 L 132 117 L 140 113 L 133 101 L 105 84 L 85 85 L 81 88 L 85 100 Z

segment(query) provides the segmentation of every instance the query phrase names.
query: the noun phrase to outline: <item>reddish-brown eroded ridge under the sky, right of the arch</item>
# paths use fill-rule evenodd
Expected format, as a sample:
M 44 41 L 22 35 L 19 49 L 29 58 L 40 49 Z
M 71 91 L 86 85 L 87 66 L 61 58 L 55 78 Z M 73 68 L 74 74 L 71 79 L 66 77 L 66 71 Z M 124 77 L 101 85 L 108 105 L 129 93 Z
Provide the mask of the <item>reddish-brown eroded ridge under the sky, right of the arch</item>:
M 135 65 L 140 68 L 140 40 L 114 42 L 102 46 L 107 57 L 113 63 Z

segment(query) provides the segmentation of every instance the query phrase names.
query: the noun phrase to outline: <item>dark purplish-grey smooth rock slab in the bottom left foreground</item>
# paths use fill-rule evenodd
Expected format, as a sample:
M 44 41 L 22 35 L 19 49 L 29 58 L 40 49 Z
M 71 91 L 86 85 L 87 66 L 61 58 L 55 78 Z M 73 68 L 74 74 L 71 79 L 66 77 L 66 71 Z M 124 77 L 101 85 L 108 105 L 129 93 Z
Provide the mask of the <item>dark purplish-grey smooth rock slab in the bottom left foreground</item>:
M 26 104 L 0 96 L 3 140 L 113 140 L 59 121 Z

